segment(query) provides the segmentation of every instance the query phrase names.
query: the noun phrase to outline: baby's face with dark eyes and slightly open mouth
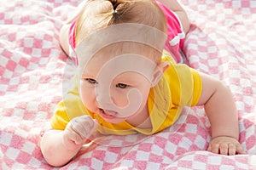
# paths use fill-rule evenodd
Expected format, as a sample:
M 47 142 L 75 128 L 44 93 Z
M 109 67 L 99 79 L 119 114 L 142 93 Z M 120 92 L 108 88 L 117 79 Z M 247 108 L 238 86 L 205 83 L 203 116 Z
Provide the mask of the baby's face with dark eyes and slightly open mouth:
M 127 121 L 147 109 L 156 67 L 153 60 L 138 54 L 97 54 L 81 72 L 81 99 L 107 122 Z

